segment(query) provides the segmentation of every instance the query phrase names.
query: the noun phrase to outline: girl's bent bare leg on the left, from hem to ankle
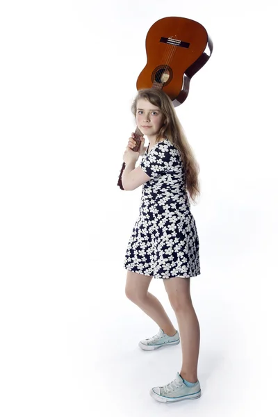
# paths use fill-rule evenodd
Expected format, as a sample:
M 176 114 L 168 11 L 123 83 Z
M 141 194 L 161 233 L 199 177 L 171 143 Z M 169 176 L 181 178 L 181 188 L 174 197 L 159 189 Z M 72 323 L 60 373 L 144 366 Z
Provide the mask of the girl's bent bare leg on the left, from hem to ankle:
M 136 274 L 136 272 L 127 272 L 126 276 L 126 297 L 136 304 L 147 316 L 163 329 L 168 336 L 174 336 L 177 329 L 174 328 L 170 318 L 158 299 L 149 293 L 149 284 L 152 277 L 147 275 Z

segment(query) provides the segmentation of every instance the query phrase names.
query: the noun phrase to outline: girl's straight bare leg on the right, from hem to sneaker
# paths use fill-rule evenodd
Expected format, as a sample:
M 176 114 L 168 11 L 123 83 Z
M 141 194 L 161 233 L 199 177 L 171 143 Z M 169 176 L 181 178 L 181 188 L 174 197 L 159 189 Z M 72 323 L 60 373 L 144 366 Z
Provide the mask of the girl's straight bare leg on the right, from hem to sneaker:
M 182 350 L 180 375 L 188 382 L 197 382 L 200 329 L 190 297 L 190 278 L 177 277 L 163 281 L 179 325 Z

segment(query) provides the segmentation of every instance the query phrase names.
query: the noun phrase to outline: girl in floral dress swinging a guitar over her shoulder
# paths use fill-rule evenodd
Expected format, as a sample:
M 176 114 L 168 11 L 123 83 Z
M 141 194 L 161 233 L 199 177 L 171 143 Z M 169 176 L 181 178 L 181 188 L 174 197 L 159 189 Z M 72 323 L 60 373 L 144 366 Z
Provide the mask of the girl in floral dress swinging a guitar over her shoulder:
M 177 345 L 181 335 L 180 373 L 169 384 L 152 388 L 150 394 L 160 402 L 191 400 L 201 396 L 197 379 L 199 322 L 190 297 L 190 277 L 200 274 L 200 265 L 199 238 L 188 194 L 193 202 L 199 195 L 199 165 L 163 90 L 139 90 L 131 109 L 149 146 L 145 148 L 141 138 L 140 151 L 133 152 L 136 141 L 132 133 L 123 156 L 124 190 L 142 185 L 140 213 L 124 259 L 126 297 L 160 328 L 158 334 L 140 341 L 143 350 Z M 135 167 L 140 155 L 142 161 Z M 153 277 L 163 279 L 179 332 L 161 302 L 148 292 Z

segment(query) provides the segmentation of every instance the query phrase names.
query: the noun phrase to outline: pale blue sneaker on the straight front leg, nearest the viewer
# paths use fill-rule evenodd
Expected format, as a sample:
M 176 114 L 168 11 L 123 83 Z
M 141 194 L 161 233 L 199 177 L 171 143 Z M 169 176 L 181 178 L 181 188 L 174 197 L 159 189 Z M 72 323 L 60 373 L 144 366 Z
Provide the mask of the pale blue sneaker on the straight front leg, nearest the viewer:
M 182 400 L 196 400 L 201 397 L 199 380 L 193 386 L 187 386 L 179 373 L 174 381 L 164 386 L 155 386 L 149 391 L 154 400 L 159 402 L 177 402 Z

